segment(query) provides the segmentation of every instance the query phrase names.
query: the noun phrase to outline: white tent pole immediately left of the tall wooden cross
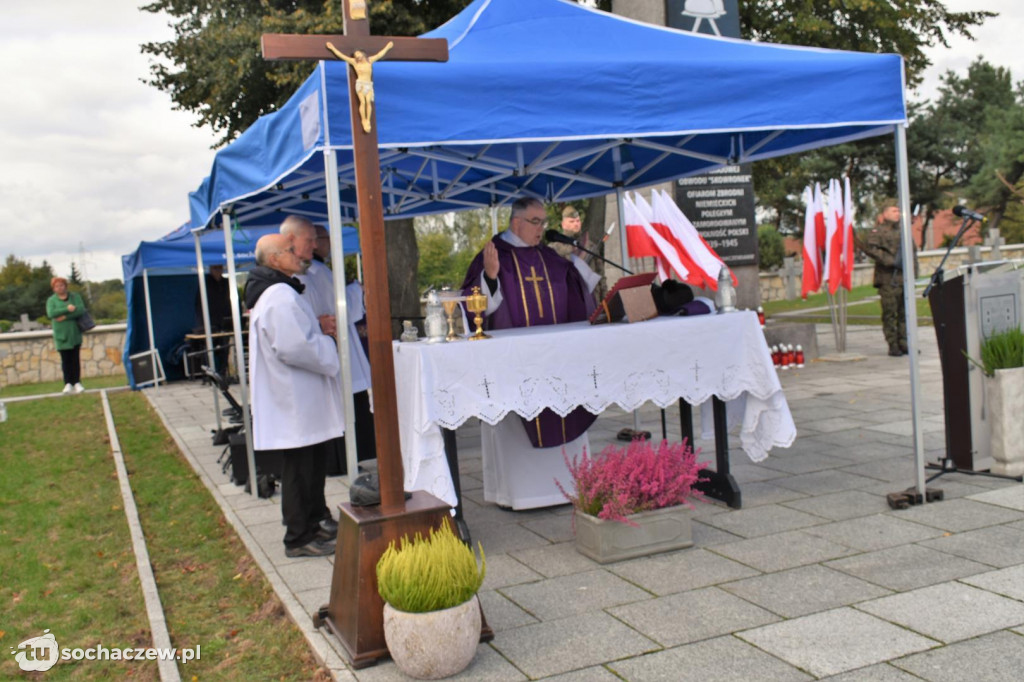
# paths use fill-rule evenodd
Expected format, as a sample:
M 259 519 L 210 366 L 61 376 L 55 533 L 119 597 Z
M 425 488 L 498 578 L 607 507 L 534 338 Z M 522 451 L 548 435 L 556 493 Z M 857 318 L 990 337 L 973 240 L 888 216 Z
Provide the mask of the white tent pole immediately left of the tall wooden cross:
M 327 214 L 331 233 L 331 264 L 334 276 L 335 323 L 338 329 L 338 361 L 341 364 L 341 397 L 345 406 L 345 465 L 348 482 L 359 473 L 355 441 L 355 402 L 352 399 L 352 366 L 348 352 L 348 297 L 345 295 L 345 249 L 341 241 L 341 187 L 338 185 L 338 157 L 334 150 L 324 150 L 324 174 L 327 183 Z

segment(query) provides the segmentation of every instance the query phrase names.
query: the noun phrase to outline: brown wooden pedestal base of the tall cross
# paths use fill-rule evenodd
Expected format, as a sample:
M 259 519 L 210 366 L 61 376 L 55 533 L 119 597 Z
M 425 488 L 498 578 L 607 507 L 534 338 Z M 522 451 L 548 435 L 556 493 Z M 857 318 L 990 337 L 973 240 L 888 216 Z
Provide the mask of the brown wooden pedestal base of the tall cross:
M 392 540 L 428 535 L 450 517 L 451 507 L 427 493 L 413 493 L 404 509 L 340 506 L 331 600 L 313 616 L 338 638 L 349 664 L 358 670 L 388 655 L 384 641 L 384 601 L 377 593 L 377 561 Z M 480 641 L 494 633 L 482 619 Z

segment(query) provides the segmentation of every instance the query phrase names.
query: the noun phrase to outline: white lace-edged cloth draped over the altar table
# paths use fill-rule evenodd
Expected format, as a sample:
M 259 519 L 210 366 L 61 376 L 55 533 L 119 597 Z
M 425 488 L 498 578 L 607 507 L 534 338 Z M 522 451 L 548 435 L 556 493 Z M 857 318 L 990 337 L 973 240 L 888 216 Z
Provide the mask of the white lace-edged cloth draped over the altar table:
M 486 341 L 394 342 L 395 392 L 407 491 L 455 505 L 441 428 L 471 417 L 497 424 L 510 412 L 532 419 L 551 408 L 600 414 L 650 400 L 668 408 L 713 395 L 741 414 L 740 447 L 760 462 L 797 437 L 757 315 L 740 311 L 490 332 Z

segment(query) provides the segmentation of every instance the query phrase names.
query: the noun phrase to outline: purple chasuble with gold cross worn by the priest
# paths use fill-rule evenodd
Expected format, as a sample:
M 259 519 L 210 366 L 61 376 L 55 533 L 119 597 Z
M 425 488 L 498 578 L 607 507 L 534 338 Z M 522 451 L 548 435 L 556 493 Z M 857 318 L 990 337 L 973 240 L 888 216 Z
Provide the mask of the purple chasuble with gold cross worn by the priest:
M 575 266 L 546 245 L 512 246 L 501 236 L 492 242 L 498 248 L 502 304 L 484 319 L 484 329 L 540 327 L 587 319 L 593 297 Z M 470 263 L 462 289 L 470 294 L 479 286 L 483 253 Z M 545 410 L 536 419 L 522 420 L 534 447 L 554 447 L 579 438 L 590 428 L 595 415 L 577 408 L 564 418 Z

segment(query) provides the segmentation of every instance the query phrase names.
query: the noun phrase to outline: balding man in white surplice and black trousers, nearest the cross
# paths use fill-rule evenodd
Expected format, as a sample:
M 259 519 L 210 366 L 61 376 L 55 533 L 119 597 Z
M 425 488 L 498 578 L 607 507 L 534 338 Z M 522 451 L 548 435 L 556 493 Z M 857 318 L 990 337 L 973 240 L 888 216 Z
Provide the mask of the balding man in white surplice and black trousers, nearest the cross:
M 267 235 L 256 243 L 249 273 L 249 372 L 253 444 L 282 456 L 281 510 L 285 554 L 328 556 L 334 536 L 321 525 L 326 446 L 344 434 L 338 351 L 325 335 L 304 287 L 292 240 Z

